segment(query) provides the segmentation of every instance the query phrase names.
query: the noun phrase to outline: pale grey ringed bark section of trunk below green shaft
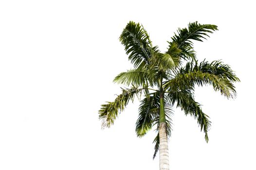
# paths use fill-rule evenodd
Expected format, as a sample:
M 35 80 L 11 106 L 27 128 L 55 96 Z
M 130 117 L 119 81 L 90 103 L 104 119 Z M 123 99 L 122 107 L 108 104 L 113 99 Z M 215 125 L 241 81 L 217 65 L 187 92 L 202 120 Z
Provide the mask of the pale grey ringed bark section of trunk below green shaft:
M 169 152 L 165 122 L 159 124 L 159 167 L 160 170 L 169 170 Z

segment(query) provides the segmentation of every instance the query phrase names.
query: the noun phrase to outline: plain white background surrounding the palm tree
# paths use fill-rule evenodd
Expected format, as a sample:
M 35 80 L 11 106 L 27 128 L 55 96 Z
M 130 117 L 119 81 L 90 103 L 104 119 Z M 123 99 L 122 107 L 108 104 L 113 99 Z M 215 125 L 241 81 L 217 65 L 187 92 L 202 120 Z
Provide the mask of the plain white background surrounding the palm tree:
M 222 59 L 240 78 L 237 99 L 211 87 L 196 100 L 212 121 L 209 143 L 176 109 L 170 170 L 256 170 L 255 5 L 253 0 L 1 0 L 0 170 L 158 170 L 155 132 L 135 134 L 139 102 L 101 130 L 100 104 L 131 68 L 118 37 L 140 22 L 162 51 L 178 27 L 216 24 L 195 43 L 198 59 Z

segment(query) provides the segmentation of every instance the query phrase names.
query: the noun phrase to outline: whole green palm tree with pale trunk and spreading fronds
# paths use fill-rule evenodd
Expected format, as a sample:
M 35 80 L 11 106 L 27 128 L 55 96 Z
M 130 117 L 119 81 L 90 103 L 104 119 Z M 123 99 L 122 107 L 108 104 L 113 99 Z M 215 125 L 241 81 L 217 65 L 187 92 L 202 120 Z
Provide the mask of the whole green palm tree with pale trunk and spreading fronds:
M 113 102 L 101 105 L 99 119 L 102 119 L 103 128 L 110 127 L 136 96 L 141 103 L 135 131 L 142 137 L 156 127 L 153 159 L 159 151 L 160 170 L 169 170 L 168 137 L 174 106 L 197 119 L 208 142 L 211 122 L 194 100 L 195 86 L 212 85 L 215 91 L 220 91 L 228 99 L 236 97 L 234 83 L 239 79 L 232 69 L 221 61 L 209 63 L 203 60 L 199 63 L 193 50 L 194 40 L 202 41 L 216 30 L 216 25 L 189 23 L 188 28 L 178 29 L 178 34 L 168 42 L 164 53 L 157 46 L 152 46 L 149 35 L 139 23 L 130 21 L 120 35 L 134 68 L 114 78 L 114 83 L 128 88 L 122 88 L 122 93 Z

